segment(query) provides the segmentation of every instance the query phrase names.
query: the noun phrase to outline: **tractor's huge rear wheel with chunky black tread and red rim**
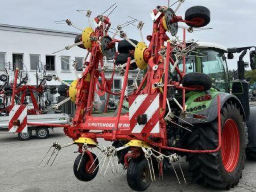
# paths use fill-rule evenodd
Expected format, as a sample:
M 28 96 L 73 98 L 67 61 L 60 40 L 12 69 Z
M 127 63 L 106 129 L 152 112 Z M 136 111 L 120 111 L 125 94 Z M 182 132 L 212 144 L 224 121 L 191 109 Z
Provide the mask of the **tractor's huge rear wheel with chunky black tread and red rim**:
M 189 170 L 198 184 L 213 188 L 233 188 L 242 177 L 245 148 L 248 143 L 240 109 L 226 103 L 221 110 L 222 146 L 216 153 L 188 153 Z M 192 150 L 215 149 L 218 146 L 218 121 L 198 125 L 188 138 Z

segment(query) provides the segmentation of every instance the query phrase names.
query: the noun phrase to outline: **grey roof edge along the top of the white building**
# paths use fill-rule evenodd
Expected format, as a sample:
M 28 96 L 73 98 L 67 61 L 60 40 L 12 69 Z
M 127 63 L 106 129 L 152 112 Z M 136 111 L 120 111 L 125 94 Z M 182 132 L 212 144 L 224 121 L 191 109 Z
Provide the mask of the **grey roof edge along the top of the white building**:
M 55 36 L 67 36 L 67 37 L 74 37 L 79 34 L 71 31 L 59 31 L 59 30 L 52 30 L 52 29 L 25 27 L 25 26 L 8 25 L 8 24 L 1 24 L 1 23 L 0 23 L 0 30 L 16 31 L 16 32 L 23 32 L 23 33 L 37 33 L 37 34 L 55 35 Z

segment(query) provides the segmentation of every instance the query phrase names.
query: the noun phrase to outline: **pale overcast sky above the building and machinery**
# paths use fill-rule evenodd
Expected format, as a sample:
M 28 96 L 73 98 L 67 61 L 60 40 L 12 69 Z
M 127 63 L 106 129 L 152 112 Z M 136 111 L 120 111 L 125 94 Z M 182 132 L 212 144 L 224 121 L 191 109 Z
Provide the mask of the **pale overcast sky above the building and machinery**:
M 170 1 L 174 3 L 176 0 Z M 112 27 L 129 20 L 129 15 L 145 22 L 143 36 L 146 37 L 152 33 L 149 11 L 157 5 L 167 5 L 167 0 L 1 0 L 0 23 L 79 32 L 67 25 L 56 25 L 54 21 L 71 19 L 74 24 L 84 28 L 88 26 L 87 19 L 77 9 L 91 9 L 92 16 L 97 16 L 114 3 L 118 7 L 110 16 Z M 256 46 L 255 0 L 185 0 L 177 15 L 184 17 L 185 11 L 195 5 L 210 9 L 211 22 L 208 27 L 213 29 L 189 34 L 188 39 L 226 47 Z M 140 38 L 135 27 L 124 29 L 128 37 Z M 179 35 L 182 35 L 181 30 Z M 248 55 L 245 60 L 249 61 Z M 236 61 L 228 60 L 228 67 L 236 68 Z

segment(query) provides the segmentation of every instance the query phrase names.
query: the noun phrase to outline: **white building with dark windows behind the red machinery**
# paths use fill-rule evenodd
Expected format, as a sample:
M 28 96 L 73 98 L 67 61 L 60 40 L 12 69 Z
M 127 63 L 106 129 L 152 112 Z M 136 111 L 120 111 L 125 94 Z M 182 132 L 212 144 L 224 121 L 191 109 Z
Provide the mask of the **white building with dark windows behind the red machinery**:
M 81 68 L 87 51 L 73 47 L 56 54 L 53 52 L 74 44 L 76 35 L 76 33 L 67 31 L 0 24 L 0 66 L 3 67 L 3 63 L 9 64 L 11 67 L 13 63 L 16 63 L 16 66 L 22 66 L 20 64 L 22 60 L 28 70 L 28 84 L 35 85 L 36 63 L 42 62 L 46 64 L 47 74 L 55 74 L 61 79 L 71 82 L 76 78 L 71 64 L 73 61 L 77 61 L 77 68 Z M 20 68 L 22 69 L 22 67 Z M 23 68 L 23 70 L 25 69 Z M 129 85 L 132 84 L 132 79 L 136 74 L 137 72 L 129 73 Z M 111 73 L 108 72 L 106 78 L 110 78 L 110 75 Z M 121 89 L 123 82 L 122 76 L 118 73 L 114 78 L 112 91 L 116 92 Z M 48 85 L 60 84 L 54 80 L 47 83 Z M 104 97 L 101 99 L 104 100 Z M 54 101 L 56 102 L 56 99 Z

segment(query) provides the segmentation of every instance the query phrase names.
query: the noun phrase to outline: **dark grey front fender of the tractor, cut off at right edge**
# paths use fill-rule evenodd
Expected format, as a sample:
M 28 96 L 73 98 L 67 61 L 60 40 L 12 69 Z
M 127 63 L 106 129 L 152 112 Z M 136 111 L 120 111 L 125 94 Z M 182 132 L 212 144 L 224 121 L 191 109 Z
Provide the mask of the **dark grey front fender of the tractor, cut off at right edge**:
M 245 124 L 248 127 L 248 147 L 256 147 L 256 106 L 250 106 L 250 116 Z

